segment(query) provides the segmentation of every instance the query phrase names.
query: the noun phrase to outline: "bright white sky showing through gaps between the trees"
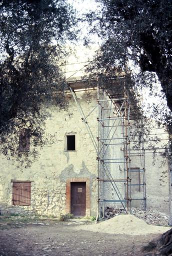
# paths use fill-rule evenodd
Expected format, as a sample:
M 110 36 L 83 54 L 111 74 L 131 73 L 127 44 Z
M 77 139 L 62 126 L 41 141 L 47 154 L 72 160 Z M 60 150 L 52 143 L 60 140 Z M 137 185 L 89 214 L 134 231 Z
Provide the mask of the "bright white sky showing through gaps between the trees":
M 94 0 L 68 0 L 68 2 L 77 10 L 79 15 L 83 15 L 85 12 L 98 11 L 98 4 Z M 87 36 L 88 24 L 80 23 L 80 41 L 75 45 L 75 53 L 71 54 L 68 58 L 68 65 L 65 66 L 66 78 L 75 76 L 79 77 L 84 74 L 84 66 L 88 59 L 91 60 L 95 51 L 98 49 L 101 41 L 98 36 L 92 36 L 94 43 L 90 45 L 90 48 L 83 46 L 82 38 Z M 70 64 L 71 63 L 71 64 Z M 75 63 L 75 64 L 73 64 Z M 135 68 L 135 67 L 134 67 Z M 132 69 L 132 67 L 131 67 Z M 76 71 L 79 70 L 79 71 Z M 157 95 L 152 95 L 148 88 L 142 89 L 143 94 L 143 107 L 146 111 L 151 105 L 158 105 L 159 109 L 163 110 L 166 106 L 166 100 L 159 98 L 158 94 L 161 94 L 161 86 L 159 82 L 153 84 L 153 91 Z M 151 115 L 152 108 L 149 108 L 147 115 Z

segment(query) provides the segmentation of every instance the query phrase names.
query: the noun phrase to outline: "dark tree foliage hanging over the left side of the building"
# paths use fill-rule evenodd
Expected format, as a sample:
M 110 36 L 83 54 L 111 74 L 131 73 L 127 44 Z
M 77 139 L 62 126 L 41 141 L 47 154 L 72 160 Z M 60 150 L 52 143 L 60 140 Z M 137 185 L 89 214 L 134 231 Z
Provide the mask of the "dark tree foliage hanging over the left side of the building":
M 0 151 L 18 159 L 18 131 L 42 146 L 49 106 L 66 107 L 60 69 L 64 43 L 75 38 L 75 13 L 66 0 L 0 1 Z M 22 154 L 22 160 L 28 154 Z

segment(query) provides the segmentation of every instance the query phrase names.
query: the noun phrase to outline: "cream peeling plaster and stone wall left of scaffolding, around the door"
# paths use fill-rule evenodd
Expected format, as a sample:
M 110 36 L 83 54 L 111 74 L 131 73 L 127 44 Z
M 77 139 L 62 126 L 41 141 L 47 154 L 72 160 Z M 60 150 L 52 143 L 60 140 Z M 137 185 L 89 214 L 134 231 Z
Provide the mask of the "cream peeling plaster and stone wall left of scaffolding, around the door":
M 96 105 L 96 92 L 91 98 L 85 92 L 77 92 L 77 98 L 85 114 Z M 69 95 L 70 96 L 70 95 Z M 67 111 L 50 109 L 46 131 L 56 132 L 54 143 L 40 149 L 40 157 L 30 168 L 18 169 L 0 156 L 0 209 L 1 212 L 36 212 L 59 215 L 65 212 L 66 179 L 88 177 L 90 179 L 91 215 L 97 214 L 97 161 L 96 153 L 73 98 L 69 98 Z M 94 137 L 97 132 L 97 113 L 88 118 Z M 75 132 L 75 151 L 65 151 L 65 133 Z M 31 180 L 31 205 L 11 205 L 12 183 L 15 180 Z

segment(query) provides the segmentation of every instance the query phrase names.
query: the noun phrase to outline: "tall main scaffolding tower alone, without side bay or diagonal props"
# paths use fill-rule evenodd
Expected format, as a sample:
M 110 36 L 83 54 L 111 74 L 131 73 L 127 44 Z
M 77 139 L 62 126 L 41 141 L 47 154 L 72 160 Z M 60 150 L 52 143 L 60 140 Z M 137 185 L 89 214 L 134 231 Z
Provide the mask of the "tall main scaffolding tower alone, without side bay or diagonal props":
M 104 216 L 105 207 L 114 203 L 120 203 L 128 213 L 128 102 L 126 95 L 115 97 L 107 90 L 97 88 L 98 103 L 98 203 L 100 216 Z M 118 128 L 121 129 L 121 137 L 116 136 Z M 114 147 L 123 146 L 122 156 L 115 155 Z M 114 150 L 113 150 L 114 149 Z M 124 168 L 123 177 L 116 177 L 116 165 Z M 122 192 L 119 183 L 123 183 Z M 111 187 L 111 191 L 107 187 Z M 106 191 L 107 190 L 107 191 Z M 111 192 L 111 193 L 110 193 Z M 113 196 L 112 196 L 113 195 Z

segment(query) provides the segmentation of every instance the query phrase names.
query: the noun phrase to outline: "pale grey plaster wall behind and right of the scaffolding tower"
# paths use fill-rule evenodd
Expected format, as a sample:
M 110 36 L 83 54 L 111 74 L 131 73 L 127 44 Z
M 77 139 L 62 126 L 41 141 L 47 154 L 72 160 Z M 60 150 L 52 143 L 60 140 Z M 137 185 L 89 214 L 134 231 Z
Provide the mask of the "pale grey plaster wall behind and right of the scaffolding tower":
M 102 97 L 100 94 L 100 99 L 108 99 L 105 97 L 105 95 Z M 107 118 L 109 115 L 114 115 L 115 112 L 111 110 L 111 113 L 109 110 L 104 110 L 104 109 L 109 109 L 113 106 L 110 106 L 110 101 L 104 101 L 105 103 L 101 102 L 102 108 L 101 108 L 101 118 Z M 108 146 L 107 150 L 106 147 L 104 146 L 104 149 L 106 150 L 104 157 L 103 157 L 103 150 L 101 154 L 99 155 L 100 158 L 106 158 L 106 159 L 111 159 L 111 160 L 106 160 L 106 161 L 114 161 L 114 163 L 106 163 L 105 165 L 107 168 L 104 168 L 104 173 L 103 173 L 103 164 L 100 164 L 100 174 L 101 178 L 107 178 L 109 179 L 107 175 L 107 169 L 110 170 L 111 177 L 112 179 L 124 179 L 124 161 L 123 157 L 123 145 L 122 145 L 122 128 L 121 128 L 121 120 L 115 120 L 114 125 L 118 125 L 118 127 L 114 127 L 111 129 L 111 126 L 113 125 L 114 120 L 109 119 L 109 120 L 104 120 L 103 125 L 104 126 L 109 126 L 109 127 L 104 127 L 102 128 L 101 125 L 99 125 L 100 133 L 99 136 L 101 138 L 111 138 L 113 136 L 115 140 L 109 140 L 106 141 L 112 143 L 111 145 Z M 115 130 L 115 132 L 114 132 Z M 113 134 L 114 133 L 114 134 Z M 162 128 L 157 128 L 157 125 L 153 123 L 152 121 L 152 128 L 151 128 L 151 133 L 160 133 L 159 138 L 164 139 L 166 143 L 166 138 L 168 137 L 167 133 L 165 133 L 164 129 Z M 161 133 L 163 133 L 161 135 Z M 155 135 L 155 137 L 158 137 Z M 159 141 L 157 144 L 155 144 L 155 147 L 164 147 L 164 142 Z M 114 143 L 114 145 L 113 145 Z M 132 148 L 133 143 L 131 143 L 130 148 Z M 149 143 L 145 143 L 145 148 L 149 147 Z M 101 148 L 101 143 L 100 143 L 100 148 Z M 159 150 L 157 150 L 159 151 Z M 139 154 L 139 151 L 132 151 L 132 152 L 137 152 Z M 113 160 L 112 160 L 113 159 Z M 123 159 L 123 160 L 122 160 Z M 143 163 L 140 155 L 138 156 L 130 156 L 131 162 L 130 162 L 130 167 L 131 168 L 143 168 Z M 118 162 L 118 163 L 117 163 Z M 142 184 L 143 183 L 143 177 L 142 177 L 143 172 L 131 172 L 131 184 L 134 184 L 131 186 L 131 194 L 130 194 L 130 189 L 128 188 L 128 197 L 131 199 L 136 199 L 136 200 L 131 200 L 131 206 L 132 207 L 141 207 L 143 208 L 143 200 L 138 199 L 142 198 L 143 199 L 143 185 L 135 185 L 135 184 Z M 140 175 L 140 177 L 139 177 Z M 140 180 L 139 180 L 140 179 Z M 168 160 L 165 157 L 162 157 L 161 154 L 157 153 L 155 157 L 153 157 L 153 154 L 150 153 L 150 151 L 146 150 L 145 153 L 145 189 L 146 189 L 146 207 L 147 208 L 152 208 L 152 209 L 157 209 L 161 212 L 164 212 L 168 215 L 171 215 L 171 188 L 169 186 L 169 166 L 168 166 Z M 113 182 L 112 182 L 113 183 Z M 125 198 L 125 191 L 124 191 L 124 181 L 118 181 L 115 182 L 115 185 L 113 183 L 113 186 L 115 186 L 115 189 L 117 193 L 114 191 L 114 187 L 110 182 L 101 182 L 100 183 L 100 197 L 104 198 L 106 200 L 119 200 L 119 197 L 121 199 Z M 103 194 L 103 186 L 104 186 L 104 194 Z M 119 196 L 118 196 L 119 195 Z M 123 203 L 125 204 L 125 203 Z M 111 206 L 111 207 L 121 207 L 121 203 L 119 202 L 108 202 L 104 203 L 104 207 L 106 206 Z M 126 206 L 126 205 L 125 205 Z M 100 212 L 103 212 L 103 203 L 100 203 Z M 102 215 L 102 213 L 101 213 Z

